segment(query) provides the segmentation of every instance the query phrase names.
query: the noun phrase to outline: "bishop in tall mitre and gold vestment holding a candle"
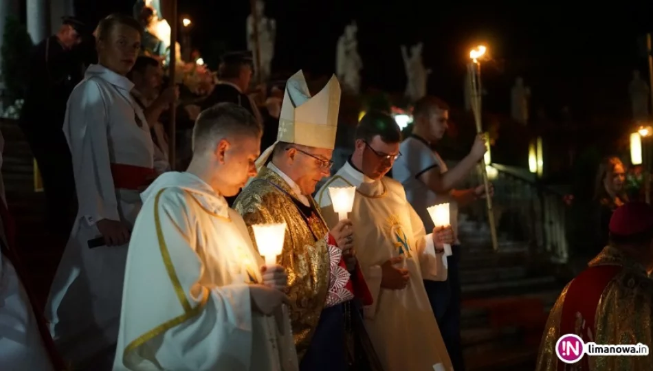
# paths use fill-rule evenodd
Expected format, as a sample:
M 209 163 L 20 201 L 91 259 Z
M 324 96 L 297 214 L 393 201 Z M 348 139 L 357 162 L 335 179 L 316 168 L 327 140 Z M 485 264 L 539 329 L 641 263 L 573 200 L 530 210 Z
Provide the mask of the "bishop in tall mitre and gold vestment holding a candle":
M 348 370 L 352 359 L 345 351 L 345 326 L 357 315 L 349 302 L 355 296 L 368 302 L 370 296 L 355 264 L 347 267 L 344 261 L 353 246 L 351 222 L 329 229 L 311 198 L 318 181 L 330 174 L 339 109 L 335 76 L 313 97 L 302 71 L 291 76 L 277 141 L 258 157 L 258 175 L 234 203 L 250 234 L 256 224 L 287 225 L 277 261 L 288 276 L 286 292 L 302 371 Z

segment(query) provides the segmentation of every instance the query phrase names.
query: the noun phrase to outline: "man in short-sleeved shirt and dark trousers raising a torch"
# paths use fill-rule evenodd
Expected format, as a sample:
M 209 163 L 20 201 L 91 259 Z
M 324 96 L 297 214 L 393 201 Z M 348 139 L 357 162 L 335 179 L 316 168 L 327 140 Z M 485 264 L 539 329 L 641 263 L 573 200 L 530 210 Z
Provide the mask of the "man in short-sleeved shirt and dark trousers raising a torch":
M 426 208 L 437 203 L 449 203 L 451 225 L 456 242 L 452 256 L 447 256 L 448 278 L 443 282 L 424 281 L 442 337 L 454 364 L 454 370 L 465 370 L 461 348 L 461 282 L 458 261 L 461 256 L 458 241 L 458 206 L 485 197 L 485 186 L 467 190 L 454 189 L 462 183 L 487 151 L 483 136 L 476 137 L 472 150 L 451 169 L 433 150 L 445 135 L 449 122 L 449 106 L 439 98 L 424 97 L 415 103 L 412 135 L 401 142 L 403 157 L 393 168 L 393 177 L 406 188 L 408 201 L 428 229 L 433 221 Z M 492 190 L 490 190 L 491 194 Z

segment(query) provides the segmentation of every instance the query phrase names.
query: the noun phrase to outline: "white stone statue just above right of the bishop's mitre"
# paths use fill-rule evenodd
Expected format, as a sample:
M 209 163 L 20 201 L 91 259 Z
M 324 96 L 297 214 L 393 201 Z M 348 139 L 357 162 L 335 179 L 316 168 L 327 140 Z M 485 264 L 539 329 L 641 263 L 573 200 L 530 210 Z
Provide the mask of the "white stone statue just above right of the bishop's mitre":
M 354 94 L 360 92 L 360 71 L 363 69 L 363 61 L 358 54 L 357 31 L 355 22 L 344 27 L 344 34 L 337 41 L 335 61 L 335 75 L 340 84 Z

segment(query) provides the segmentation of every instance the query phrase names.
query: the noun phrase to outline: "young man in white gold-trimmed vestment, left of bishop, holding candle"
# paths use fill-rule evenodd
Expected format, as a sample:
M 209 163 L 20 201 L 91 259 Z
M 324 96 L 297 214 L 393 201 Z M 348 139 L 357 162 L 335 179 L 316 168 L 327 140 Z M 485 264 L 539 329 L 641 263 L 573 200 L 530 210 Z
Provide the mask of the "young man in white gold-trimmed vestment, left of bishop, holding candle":
M 298 370 L 285 271 L 259 268 L 225 200 L 256 175 L 261 134 L 243 107 L 217 104 L 197 118 L 188 171 L 143 192 L 113 370 Z

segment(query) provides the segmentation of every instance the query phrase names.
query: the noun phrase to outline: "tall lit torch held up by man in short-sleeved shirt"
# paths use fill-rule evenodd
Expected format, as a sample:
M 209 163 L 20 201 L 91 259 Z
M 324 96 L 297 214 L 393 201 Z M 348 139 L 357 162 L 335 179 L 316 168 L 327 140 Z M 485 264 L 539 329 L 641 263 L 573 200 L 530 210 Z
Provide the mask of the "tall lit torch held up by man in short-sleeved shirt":
M 487 58 L 487 47 L 485 45 L 478 45 L 476 49 L 472 49 L 469 52 L 469 58 L 472 60 L 469 65 L 467 65 L 467 71 L 469 76 L 467 84 L 469 84 L 469 91 L 472 92 L 470 102 L 472 102 L 472 112 L 474 113 L 474 121 L 476 122 L 476 133 L 483 134 L 483 111 L 481 109 L 481 85 L 480 85 L 480 61 Z M 487 136 L 487 135 L 486 135 Z M 488 148 L 489 152 L 489 148 Z M 489 159 L 489 155 L 487 156 Z M 483 164 L 480 164 L 480 173 L 483 175 L 483 184 L 485 184 L 485 189 L 489 190 L 489 180 L 487 179 L 487 169 L 485 168 L 485 158 Z M 491 197 L 485 197 L 487 201 L 487 221 L 489 223 L 490 234 L 492 238 L 492 247 L 494 251 L 498 251 L 498 240 L 496 237 L 496 227 L 494 223 L 494 210 L 492 209 L 492 199 Z

